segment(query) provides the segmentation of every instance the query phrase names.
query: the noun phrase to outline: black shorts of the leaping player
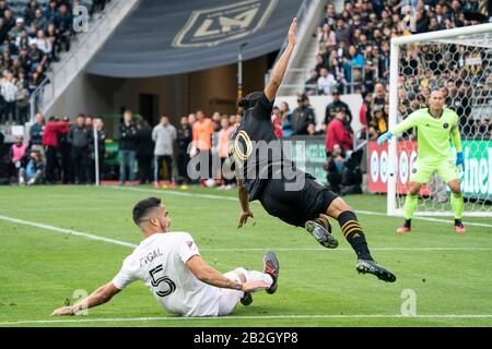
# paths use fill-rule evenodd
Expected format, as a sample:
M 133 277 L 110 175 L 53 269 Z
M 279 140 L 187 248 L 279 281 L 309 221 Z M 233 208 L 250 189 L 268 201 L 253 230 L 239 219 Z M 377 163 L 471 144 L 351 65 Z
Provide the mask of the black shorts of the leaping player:
M 305 182 L 298 190 L 289 190 L 286 184 L 295 180 L 270 179 L 259 195 L 263 208 L 289 225 L 304 227 L 307 220 L 318 218 L 338 197 L 336 193 L 305 173 Z

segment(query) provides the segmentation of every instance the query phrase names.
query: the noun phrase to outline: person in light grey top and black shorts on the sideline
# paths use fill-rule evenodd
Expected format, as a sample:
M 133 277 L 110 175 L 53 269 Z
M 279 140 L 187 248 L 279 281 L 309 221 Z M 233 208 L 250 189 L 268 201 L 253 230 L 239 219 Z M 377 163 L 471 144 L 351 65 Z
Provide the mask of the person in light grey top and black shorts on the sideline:
M 173 155 L 174 142 L 176 141 L 176 128 L 169 123 L 167 116 L 161 117 L 161 122 L 152 130 L 152 140 L 155 142 L 154 149 L 154 185 L 159 186 L 159 182 L 163 176 L 163 164 L 166 166 L 167 181 L 171 185 L 175 185 L 173 177 Z

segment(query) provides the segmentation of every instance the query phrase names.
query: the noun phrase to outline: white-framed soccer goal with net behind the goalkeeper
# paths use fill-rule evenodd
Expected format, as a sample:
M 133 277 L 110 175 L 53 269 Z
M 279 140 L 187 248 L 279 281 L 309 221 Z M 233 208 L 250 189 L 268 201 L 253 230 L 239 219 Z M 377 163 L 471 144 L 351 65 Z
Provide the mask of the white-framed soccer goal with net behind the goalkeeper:
M 394 38 L 390 61 L 389 129 L 426 107 L 432 89 L 441 89 L 445 107 L 459 116 L 464 215 L 492 216 L 492 24 Z M 403 213 L 415 159 L 417 130 L 388 143 L 388 215 Z M 453 215 L 449 194 L 434 173 L 415 215 Z

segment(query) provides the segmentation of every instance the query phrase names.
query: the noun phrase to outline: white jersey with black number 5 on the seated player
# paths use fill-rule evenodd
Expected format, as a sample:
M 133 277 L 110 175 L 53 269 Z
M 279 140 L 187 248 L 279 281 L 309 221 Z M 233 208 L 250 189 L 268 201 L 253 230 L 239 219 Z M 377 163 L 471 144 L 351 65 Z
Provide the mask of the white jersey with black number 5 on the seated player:
M 121 290 L 142 280 L 171 313 L 216 316 L 221 289 L 200 281 L 188 269 L 185 263 L 194 255 L 199 252 L 189 233 L 154 233 L 125 260 L 113 284 Z

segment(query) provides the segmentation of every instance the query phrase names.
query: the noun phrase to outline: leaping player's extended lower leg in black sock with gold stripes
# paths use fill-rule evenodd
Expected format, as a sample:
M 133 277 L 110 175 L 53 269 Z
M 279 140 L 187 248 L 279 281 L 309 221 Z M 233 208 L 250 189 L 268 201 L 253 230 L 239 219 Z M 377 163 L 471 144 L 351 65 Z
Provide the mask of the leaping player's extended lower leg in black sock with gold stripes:
M 373 274 L 380 280 L 394 282 L 396 276 L 374 262 L 365 240 L 364 231 L 352 208 L 340 197 L 328 207 L 326 214 L 338 220 L 342 233 L 358 255 L 355 268 L 362 274 Z

